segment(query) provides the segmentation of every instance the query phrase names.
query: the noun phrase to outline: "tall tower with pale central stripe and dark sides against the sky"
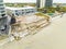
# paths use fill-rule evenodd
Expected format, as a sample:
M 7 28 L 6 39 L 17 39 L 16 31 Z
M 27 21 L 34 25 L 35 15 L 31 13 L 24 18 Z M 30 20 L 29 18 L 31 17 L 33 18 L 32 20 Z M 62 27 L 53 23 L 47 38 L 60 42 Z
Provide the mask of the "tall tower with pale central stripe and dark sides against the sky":
M 52 7 L 53 0 L 36 0 L 36 7 L 37 8 L 45 8 L 45 7 Z

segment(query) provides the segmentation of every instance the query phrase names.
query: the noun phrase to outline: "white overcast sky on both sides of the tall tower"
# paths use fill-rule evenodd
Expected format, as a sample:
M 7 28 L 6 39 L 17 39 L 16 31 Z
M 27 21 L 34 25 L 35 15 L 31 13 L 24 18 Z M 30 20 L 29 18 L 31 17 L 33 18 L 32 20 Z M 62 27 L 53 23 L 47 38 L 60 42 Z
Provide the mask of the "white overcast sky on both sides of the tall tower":
M 36 0 L 3 0 L 4 2 L 36 2 Z M 66 0 L 53 0 L 53 2 L 66 3 Z

